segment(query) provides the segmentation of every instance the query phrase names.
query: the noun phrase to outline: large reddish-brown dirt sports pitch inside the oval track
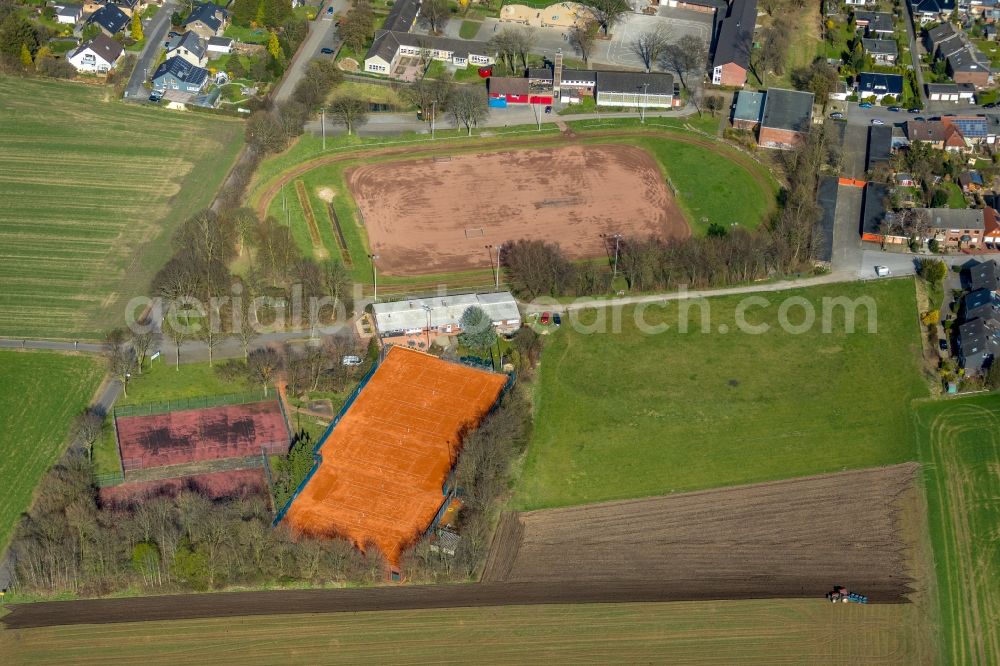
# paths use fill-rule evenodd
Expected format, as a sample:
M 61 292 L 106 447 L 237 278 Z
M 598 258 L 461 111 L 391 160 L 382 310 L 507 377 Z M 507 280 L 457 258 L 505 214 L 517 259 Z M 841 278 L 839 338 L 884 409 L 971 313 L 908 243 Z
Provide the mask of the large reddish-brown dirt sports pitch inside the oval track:
M 649 153 L 625 145 L 490 151 L 354 167 L 346 174 L 379 269 L 474 270 L 484 245 L 557 241 L 602 256 L 601 234 L 683 238 L 684 214 Z

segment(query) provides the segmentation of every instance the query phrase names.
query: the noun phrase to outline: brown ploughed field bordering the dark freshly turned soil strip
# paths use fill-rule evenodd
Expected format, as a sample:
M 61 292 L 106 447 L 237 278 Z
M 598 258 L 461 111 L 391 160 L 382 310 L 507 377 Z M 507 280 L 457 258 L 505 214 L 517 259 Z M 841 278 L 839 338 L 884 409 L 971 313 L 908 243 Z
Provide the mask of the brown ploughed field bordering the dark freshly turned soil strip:
M 900 602 L 911 581 L 896 500 L 916 468 L 508 514 L 483 581 L 697 581 L 731 599 L 821 597 L 841 584 Z

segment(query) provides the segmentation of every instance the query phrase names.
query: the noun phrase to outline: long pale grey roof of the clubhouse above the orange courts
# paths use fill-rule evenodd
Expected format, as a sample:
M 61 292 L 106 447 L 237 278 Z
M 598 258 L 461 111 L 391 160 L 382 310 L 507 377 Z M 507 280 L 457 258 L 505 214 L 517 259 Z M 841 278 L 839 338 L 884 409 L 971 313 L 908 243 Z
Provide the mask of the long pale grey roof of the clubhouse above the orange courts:
M 413 298 L 391 303 L 375 303 L 372 311 L 375 315 L 375 326 L 382 335 L 407 330 L 423 330 L 427 326 L 428 313 L 424 306 L 430 308 L 432 328 L 440 326 L 457 327 L 462 315 L 471 306 L 482 308 L 494 324 L 501 321 L 520 322 L 521 313 L 517 309 L 517 301 L 509 292 L 489 294 L 456 294 L 454 296 L 433 296 L 429 298 Z

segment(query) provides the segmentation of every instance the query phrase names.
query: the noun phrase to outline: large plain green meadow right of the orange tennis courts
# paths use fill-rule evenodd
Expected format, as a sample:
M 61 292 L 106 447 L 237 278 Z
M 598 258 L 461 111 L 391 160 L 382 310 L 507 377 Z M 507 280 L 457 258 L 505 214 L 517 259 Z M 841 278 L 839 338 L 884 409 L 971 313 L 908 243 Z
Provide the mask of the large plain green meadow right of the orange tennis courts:
M 822 299 L 870 296 L 854 333 L 834 310 L 822 333 Z M 788 298 L 813 304 L 815 325 L 791 334 L 778 326 Z M 692 303 L 691 332 L 679 332 L 678 302 L 644 316 L 666 332 L 638 330 L 624 308 L 620 333 L 585 334 L 571 317 L 547 342 L 536 387 L 535 431 L 514 503 L 519 509 L 784 479 L 886 465 L 916 456 L 911 399 L 927 389 L 917 363 L 919 327 L 908 279 L 842 284 L 766 295 L 708 299 L 710 332 Z M 803 320 L 802 305 L 788 320 Z M 607 313 L 607 310 L 602 310 Z M 580 317 L 594 320 L 594 311 Z M 613 330 L 614 321 L 608 323 Z M 723 327 L 727 333 L 721 332 Z

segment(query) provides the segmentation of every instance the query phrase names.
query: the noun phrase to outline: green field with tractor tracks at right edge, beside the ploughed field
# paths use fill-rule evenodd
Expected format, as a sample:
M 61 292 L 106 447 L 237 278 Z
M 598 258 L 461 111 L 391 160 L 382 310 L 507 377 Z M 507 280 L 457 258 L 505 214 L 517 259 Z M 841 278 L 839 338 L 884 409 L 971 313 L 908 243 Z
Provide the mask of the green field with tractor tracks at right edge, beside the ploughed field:
M 918 404 L 945 653 L 1000 663 L 1000 395 Z

